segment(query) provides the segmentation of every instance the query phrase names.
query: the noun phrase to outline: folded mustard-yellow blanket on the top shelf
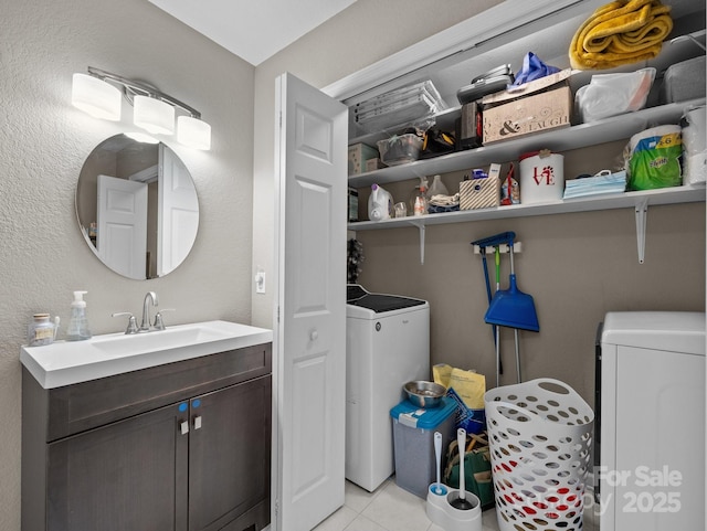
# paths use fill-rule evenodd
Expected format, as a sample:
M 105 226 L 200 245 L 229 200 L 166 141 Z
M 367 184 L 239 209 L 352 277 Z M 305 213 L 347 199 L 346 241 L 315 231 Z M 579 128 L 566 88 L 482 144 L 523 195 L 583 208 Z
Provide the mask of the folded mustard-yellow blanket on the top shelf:
M 655 57 L 673 30 L 669 12 L 659 0 L 614 1 L 599 8 L 572 38 L 572 68 L 612 68 Z

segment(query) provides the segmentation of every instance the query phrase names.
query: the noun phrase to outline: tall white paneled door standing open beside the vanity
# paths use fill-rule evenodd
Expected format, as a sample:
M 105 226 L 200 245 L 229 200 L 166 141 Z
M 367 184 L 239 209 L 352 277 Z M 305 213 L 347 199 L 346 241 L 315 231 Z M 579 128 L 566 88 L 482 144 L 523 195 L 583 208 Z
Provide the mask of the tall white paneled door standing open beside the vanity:
M 344 505 L 347 107 L 276 79 L 273 529 Z

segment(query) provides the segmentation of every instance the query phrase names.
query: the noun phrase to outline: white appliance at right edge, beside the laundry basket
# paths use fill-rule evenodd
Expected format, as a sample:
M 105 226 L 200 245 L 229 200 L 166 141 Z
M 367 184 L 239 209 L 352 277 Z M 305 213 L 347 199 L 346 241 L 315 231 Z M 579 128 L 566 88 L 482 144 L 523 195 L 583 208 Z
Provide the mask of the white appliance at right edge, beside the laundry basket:
M 705 314 L 610 312 L 600 332 L 601 531 L 705 529 Z

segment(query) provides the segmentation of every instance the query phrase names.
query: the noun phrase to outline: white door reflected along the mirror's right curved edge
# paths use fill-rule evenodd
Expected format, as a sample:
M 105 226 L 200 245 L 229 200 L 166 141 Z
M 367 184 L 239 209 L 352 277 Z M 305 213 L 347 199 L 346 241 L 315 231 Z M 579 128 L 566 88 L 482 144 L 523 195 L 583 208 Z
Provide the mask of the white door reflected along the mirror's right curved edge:
M 197 238 L 199 200 L 184 163 L 170 149 L 159 145 L 157 193 L 157 275 L 177 267 Z

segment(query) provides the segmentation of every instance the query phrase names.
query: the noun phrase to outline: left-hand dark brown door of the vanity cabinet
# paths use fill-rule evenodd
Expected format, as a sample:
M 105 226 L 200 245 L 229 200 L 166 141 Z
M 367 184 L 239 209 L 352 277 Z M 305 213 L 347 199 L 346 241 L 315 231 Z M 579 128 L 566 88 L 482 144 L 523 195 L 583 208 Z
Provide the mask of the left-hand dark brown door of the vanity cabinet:
M 173 404 L 50 444 L 46 529 L 186 531 L 186 421 Z

